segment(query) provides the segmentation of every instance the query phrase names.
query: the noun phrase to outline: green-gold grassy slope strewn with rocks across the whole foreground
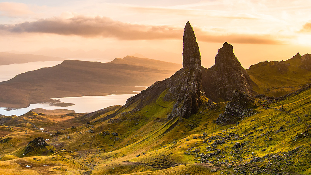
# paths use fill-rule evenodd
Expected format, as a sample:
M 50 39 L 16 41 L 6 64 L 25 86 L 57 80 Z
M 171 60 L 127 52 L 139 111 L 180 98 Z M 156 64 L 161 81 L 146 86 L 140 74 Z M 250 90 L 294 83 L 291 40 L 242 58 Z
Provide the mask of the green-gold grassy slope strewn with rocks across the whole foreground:
M 138 110 L 134 103 L 59 122 L 56 116 L 36 115 L 32 122 L 48 128 L 44 132 L 9 123 L 15 131 L 0 139 L 0 173 L 311 174 L 311 89 L 230 125 L 215 124 L 227 102 L 211 105 L 205 97 L 197 114 L 167 121 L 174 101 L 163 101 L 165 93 Z M 254 102 L 262 106 L 265 99 Z M 16 150 L 39 136 L 60 152 L 18 158 Z

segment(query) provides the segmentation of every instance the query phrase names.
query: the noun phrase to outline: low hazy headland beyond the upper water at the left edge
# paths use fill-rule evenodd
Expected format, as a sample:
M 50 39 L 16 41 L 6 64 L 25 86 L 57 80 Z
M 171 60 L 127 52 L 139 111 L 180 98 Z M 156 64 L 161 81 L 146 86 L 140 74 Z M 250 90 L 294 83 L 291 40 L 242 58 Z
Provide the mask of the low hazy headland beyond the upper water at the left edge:
M 0 52 L 0 65 L 9 65 L 15 63 L 29 63 L 35 61 L 63 61 L 65 58 L 34 55 L 34 54 L 14 54 Z

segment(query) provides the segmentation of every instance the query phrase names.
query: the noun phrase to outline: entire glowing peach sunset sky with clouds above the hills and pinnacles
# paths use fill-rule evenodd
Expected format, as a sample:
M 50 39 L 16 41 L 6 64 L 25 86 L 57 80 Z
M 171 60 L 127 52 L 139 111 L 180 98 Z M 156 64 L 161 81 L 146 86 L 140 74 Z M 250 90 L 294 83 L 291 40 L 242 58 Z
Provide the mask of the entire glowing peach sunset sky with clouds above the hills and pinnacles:
M 228 42 L 248 69 L 311 53 L 310 10 L 305 0 L 0 1 L 0 51 L 99 50 L 108 59 L 141 54 L 181 64 L 190 21 L 204 67 Z

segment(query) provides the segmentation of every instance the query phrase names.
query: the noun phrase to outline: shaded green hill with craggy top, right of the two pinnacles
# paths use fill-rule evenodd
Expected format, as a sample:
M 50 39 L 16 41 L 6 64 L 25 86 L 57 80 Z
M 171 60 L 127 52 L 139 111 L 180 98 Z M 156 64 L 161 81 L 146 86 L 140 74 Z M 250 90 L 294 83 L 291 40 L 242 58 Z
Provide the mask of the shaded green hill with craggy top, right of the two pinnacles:
M 311 71 L 299 54 L 286 61 L 264 61 L 250 66 L 247 73 L 253 80 L 253 90 L 259 94 L 279 97 L 311 83 Z

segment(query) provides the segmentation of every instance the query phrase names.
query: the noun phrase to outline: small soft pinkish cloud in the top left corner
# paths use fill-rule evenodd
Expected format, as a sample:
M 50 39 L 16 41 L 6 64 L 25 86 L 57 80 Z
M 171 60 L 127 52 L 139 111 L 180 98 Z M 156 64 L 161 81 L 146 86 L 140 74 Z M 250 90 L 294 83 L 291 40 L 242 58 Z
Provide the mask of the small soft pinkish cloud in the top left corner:
M 32 14 L 26 4 L 17 2 L 0 2 L 0 15 L 8 17 L 23 16 Z

